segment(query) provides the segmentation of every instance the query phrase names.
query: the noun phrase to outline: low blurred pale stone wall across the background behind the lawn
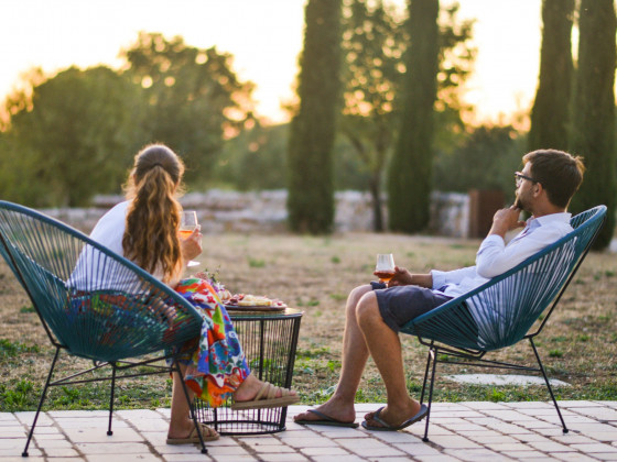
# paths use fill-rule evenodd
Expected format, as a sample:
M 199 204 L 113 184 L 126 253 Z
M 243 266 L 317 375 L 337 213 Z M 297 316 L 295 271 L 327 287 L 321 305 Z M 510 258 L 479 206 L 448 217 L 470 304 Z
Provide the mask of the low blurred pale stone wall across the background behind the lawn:
M 466 222 L 468 199 L 466 198 L 467 195 L 434 193 L 431 206 L 431 232 L 465 238 L 468 232 Z M 45 212 L 89 232 L 102 213 L 121 200 L 121 196 L 97 196 L 91 208 L 47 209 Z M 372 231 L 372 205 L 368 193 L 338 191 L 335 200 L 337 232 Z M 285 190 L 238 193 L 212 189 L 207 193 L 191 193 L 181 198 L 185 209 L 197 211 L 204 233 L 285 232 L 288 218 L 285 201 Z M 387 222 L 386 207 L 383 217 Z

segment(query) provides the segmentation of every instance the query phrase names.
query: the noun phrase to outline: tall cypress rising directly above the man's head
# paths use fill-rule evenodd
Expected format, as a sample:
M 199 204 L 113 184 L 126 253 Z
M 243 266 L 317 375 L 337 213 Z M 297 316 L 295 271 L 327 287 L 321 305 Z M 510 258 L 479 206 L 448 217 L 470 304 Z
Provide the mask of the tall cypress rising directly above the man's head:
M 565 150 L 572 92 L 574 0 L 542 1 L 540 78 L 531 110 L 529 151 Z

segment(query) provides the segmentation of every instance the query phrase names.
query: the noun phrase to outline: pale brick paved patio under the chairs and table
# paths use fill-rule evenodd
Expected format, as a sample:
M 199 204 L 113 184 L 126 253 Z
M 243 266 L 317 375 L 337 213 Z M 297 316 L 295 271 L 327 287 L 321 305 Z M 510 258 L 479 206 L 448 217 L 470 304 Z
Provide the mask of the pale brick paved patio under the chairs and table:
M 380 405 L 357 405 L 358 421 Z M 119 410 L 112 437 L 105 411 L 48 411 L 40 417 L 30 460 L 123 461 L 617 461 L 617 402 L 560 402 L 570 433 L 563 435 L 549 403 L 436 403 L 431 441 L 424 425 L 399 432 L 323 426 L 252 437 L 221 437 L 209 453 L 165 444 L 169 409 Z M 20 454 L 34 413 L 0 414 L 0 462 Z

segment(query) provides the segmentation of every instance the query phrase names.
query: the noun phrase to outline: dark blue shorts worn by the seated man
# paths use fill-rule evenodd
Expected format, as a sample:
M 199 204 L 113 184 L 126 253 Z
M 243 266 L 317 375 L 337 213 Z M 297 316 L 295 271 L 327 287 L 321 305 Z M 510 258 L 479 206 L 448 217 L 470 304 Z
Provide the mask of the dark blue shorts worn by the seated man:
M 394 332 L 399 332 L 412 319 L 452 299 L 452 297 L 435 294 L 433 290 L 420 286 L 387 288 L 386 284 L 377 282 L 371 282 L 370 285 L 377 296 L 383 322 Z

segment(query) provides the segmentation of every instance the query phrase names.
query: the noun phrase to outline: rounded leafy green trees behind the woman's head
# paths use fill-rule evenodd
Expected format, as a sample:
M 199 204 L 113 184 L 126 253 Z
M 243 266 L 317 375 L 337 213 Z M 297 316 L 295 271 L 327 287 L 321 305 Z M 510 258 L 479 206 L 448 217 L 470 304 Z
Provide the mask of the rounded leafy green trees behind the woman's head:
M 203 185 L 226 138 L 252 123 L 252 84 L 240 82 L 231 56 L 182 38 L 141 33 L 123 52 L 123 73 L 76 67 L 9 96 L 0 132 L 0 196 L 33 206 L 85 206 L 120 193 L 134 153 L 164 142 Z

